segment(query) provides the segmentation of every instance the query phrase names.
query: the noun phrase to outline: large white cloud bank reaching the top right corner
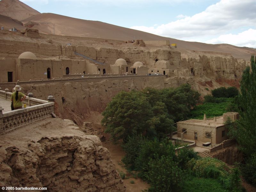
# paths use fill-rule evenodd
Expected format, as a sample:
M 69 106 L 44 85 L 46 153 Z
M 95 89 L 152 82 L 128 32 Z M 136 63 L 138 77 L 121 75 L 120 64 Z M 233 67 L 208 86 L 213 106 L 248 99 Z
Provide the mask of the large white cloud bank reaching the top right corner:
M 188 41 L 192 39 L 209 40 L 213 36 L 221 36 L 241 27 L 255 26 L 255 10 L 255 0 L 221 0 L 191 17 L 186 16 L 157 27 L 133 26 L 131 28 Z M 246 33 L 241 33 L 240 36 L 242 35 L 246 35 Z

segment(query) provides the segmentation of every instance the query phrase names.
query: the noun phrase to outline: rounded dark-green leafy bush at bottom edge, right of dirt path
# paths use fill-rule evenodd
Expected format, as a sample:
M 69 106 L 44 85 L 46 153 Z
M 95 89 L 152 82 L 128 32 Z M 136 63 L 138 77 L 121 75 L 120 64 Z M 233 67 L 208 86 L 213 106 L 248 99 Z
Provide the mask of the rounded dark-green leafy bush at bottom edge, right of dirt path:
M 182 185 L 183 172 L 170 156 L 151 159 L 148 163 L 149 171 L 146 175 L 151 187 L 149 192 L 179 191 Z

